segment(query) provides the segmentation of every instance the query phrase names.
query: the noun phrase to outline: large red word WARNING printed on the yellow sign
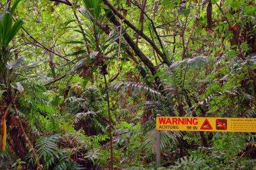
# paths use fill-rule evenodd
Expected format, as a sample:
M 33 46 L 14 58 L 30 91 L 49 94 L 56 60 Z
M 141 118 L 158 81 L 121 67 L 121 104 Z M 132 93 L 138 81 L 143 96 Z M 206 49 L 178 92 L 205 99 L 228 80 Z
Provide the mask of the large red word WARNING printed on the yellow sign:
M 190 125 L 197 125 L 198 121 L 197 118 L 164 118 L 160 117 L 159 118 L 159 123 L 160 124 L 190 124 Z

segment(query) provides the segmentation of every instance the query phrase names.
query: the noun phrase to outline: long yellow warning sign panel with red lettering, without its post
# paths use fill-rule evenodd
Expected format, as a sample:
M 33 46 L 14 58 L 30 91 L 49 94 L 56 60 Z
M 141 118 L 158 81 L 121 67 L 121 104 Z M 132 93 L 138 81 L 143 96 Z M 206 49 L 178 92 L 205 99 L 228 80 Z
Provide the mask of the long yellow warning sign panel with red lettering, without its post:
M 256 132 L 256 118 L 156 117 L 156 130 Z

